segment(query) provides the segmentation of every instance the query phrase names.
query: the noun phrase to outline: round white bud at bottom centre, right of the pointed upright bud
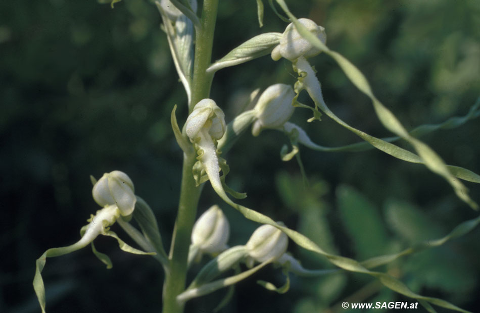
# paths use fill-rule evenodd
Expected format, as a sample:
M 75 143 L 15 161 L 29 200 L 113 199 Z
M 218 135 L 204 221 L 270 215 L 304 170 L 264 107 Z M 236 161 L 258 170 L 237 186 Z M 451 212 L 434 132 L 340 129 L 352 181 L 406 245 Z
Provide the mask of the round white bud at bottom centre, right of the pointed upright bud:
M 281 230 L 262 225 L 253 232 L 246 246 L 251 257 L 258 262 L 265 262 L 282 256 L 288 244 L 289 238 Z

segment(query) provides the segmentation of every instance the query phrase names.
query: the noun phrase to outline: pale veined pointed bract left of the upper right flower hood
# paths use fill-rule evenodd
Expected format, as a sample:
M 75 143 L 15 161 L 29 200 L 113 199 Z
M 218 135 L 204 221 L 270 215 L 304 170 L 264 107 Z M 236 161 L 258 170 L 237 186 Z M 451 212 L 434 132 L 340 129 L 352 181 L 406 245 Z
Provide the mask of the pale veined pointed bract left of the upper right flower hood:
M 231 50 L 225 57 L 216 61 L 208 69 L 207 73 L 242 64 L 271 53 L 273 48 L 280 42 L 281 33 L 264 33 L 257 35 Z

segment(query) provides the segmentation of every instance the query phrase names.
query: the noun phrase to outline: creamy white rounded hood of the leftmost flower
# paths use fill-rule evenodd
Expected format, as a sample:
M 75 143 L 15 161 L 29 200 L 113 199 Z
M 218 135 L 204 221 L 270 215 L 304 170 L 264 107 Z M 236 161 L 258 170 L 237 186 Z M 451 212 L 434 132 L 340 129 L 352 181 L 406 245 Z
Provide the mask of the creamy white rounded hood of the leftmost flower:
M 133 182 L 120 171 L 105 173 L 93 186 L 92 194 L 100 206 L 117 205 L 122 216 L 132 214 L 135 208 Z

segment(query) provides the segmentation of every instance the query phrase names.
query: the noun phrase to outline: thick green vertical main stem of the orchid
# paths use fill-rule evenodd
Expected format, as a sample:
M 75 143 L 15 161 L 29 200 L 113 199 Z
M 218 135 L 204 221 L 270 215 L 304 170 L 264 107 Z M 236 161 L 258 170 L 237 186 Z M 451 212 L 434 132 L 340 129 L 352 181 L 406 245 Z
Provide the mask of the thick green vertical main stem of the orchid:
M 210 96 L 213 75 L 207 74 L 206 70 L 212 58 L 217 8 L 218 0 L 204 1 L 201 27 L 198 27 L 196 32 L 194 77 L 189 113 L 197 102 Z M 183 312 L 183 304 L 179 304 L 176 297 L 185 289 L 191 229 L 195 223 L 198 201 L 202 192 L 201 186 L 196 187 L 192 174 L 192 168 L 197 162 L 196 156 L 195 151 L 183 154 L 180 199 L 169 255 L 170 270 L 165 274 L 163 289 L 163 313 Z

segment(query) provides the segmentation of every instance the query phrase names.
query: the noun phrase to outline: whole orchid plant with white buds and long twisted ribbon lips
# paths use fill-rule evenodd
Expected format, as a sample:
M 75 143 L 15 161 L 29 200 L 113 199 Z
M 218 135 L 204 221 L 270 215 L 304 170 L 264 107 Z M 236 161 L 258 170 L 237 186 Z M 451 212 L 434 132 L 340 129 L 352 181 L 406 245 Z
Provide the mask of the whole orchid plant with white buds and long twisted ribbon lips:
M 119 2 L 113 0 L 111 5 Z M 461 167 L 447 165 L 427 144 L 419 139 L 421 135 L 439 128 L 457 127 L 466 121 L 480 116 L 480 100 L 470 112 L 459 118 L 450 119 L 439 125 L 420 126 L 407 131 L 397 117 L 377 99 L 365 76 L 350 61 L 326 45 L 327 32 L 315 21 L 297 18 L 283 0 L 269 0 L 271 8 L 287 24 L 282 32 L 263 33 L 246 40 L 216 62 L 211 62 L 214 29 L 218 0 L 204 0 L 198 8 L 197 0 L 161 0 L 156 7 L 163 21 L 171 55 L 181 84 L 185 89 L 188 117 L 182 127 L 176 120 L 176 106 L 171 114 L 171 125 L 175 139 L 183 151 L 181 191 L 177 218 L 172 234 L 169 253 L 164 249 L 156 217 L 147 201 L 135 194 L 134 184 L 127 174 L 121 171 L 106 173 L 99 180 L 91 177 L 92 195 L 101 209 L 91 215 L 88 224 L 80 230 L 81 238 L 74 244 L 46 250 L 36 261 L 33 286 L 42 312 L 45 312 L 45 287 L 41 272 L 47 257 L 60 256 L 81 249 L 90 244 L 93 253 L 111 267 L 110 258 L 97 251 L 93 244 L 100 235 L 114 237 L 122 250 L 135 254 L 147 254 L 161 264 L 165 281 L 163 285 L 163 312 L 180 313 L 186 301 L 223 288 L 233 292 L 233 286 L 249 278 L 262 268 L 274 264 L 285 278 L 285 284 L 276 287 L 272 283 L 259 281 L 268 290 L 284 293 L 289 289 L 289 275 L 322 276 L 339 271 L 361 273 L 378 281 L 397 293 L 416 299 L 427 311 L 435 312 L 433 305 L 455 311 L 466 310 L 445 300 L 420 295 L 410 290 L 398 278 L 375 268 L 393 262 L 407 254 L 433 248 L 446 241 L 463 236 L 474 229 L 480 218 L 465 221 L 446 236 L 437 240 L 405 249 L 398 253 L 380 255 L 358 262 L 355 259 L 326 252 L 305 235 L 276 222 L 274 217 L 261 213 L 261 209 L 246 207 L 239 200 L 246 197 L 226 184 L 229 167 L 226 152 L 242 134 L 251 127 L 254 136 L 261 136 L 265 129 L 282 132 L 291 142 L 291 149 L 281 151 L 283 161 L 297 158 L 300 145 L 305 148 L 323 151 L 362 151 L 376 148 L 394 158 L 423 164 L 430 171 L 445 179 L 459 200 L 473 210 L 477 203 L 470 197 L 467 188 L 461 182 L 480 183 L 480 176 Z M 257 0 L 258 19 L 262 26 L 263 3 Z M 283 14 L 278 12 L 280 8 Z M 199 11 L 199 12 L 198 12 Z M 375 114 L 385 128 L 395 137 L 377 138 L 354 128 L 331 111 L 322 95 L 322 88 L 314 67 L 310 64 L 314 57 L 332 58 L 343 70 L 350 81 L 365 95 L 373 105 Z M 271 60 L 267 59 L 270 56 Z M 251 110 L 244 111 L 228 123 L 222 111 L 222 103 L 210 98 L 210 89 L 217 71 L 237 66 L 256 58 L 264 57 L 265 62 L 285 59 L 291 63 L 298 74 L 294 85 L 272 82 L 263 92 L 256 90 L 251 96 Z M 299 94 L 305 90 L 313 100 L 314 106 L 298 101 Z M 344 128 L 359 136 L 363 142 L 340 147 L 326 147 L 314 143 L 300 125 L 290 122 L 294 111 L 307 109 L 312 113 L 308 122 L 320 120 L 323 115 L 331 118 Z M 413 148 L 412 151 L 395 144 L 403 139 Z M 232 174 L 231 174 L 232 175 Z M 234 175 L 234 174 L 233 174 Z M 199 198 L 204 187 L 213 188 L 219 197 L 229 206 L 239 211 L 246 219 L 259 223 L 250 239 L 244 245 L 228 245 L 230 224 L 220 206 L 213 204 L 196 221 Z M 141 192 L 140 192 L 141 193 Z M 136 224 L 133 223 L 136 222 Z M 111 230 L 118 224 L 140 248 L 134 248 Z M 306 269 L 299 259 L 288 251 L 289 238 L 300 247 L 324 256 L 338 269 Z M 191 266 L 200 263 L 207 256 L 209 262 L 190 279 L 187 274 Z M 48 288 L 47 288 L 48 289 Z M 227 293 L 221 308 L 228 301 Z

